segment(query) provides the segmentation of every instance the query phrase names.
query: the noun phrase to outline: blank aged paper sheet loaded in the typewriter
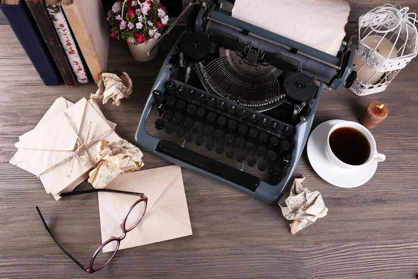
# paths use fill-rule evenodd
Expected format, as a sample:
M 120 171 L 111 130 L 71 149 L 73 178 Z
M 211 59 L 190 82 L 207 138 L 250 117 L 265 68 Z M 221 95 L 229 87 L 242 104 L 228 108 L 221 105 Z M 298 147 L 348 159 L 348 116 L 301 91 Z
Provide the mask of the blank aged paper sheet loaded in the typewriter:
M 350 14 L 344 0 L 236 0 L 232 16 L 336 56 Z

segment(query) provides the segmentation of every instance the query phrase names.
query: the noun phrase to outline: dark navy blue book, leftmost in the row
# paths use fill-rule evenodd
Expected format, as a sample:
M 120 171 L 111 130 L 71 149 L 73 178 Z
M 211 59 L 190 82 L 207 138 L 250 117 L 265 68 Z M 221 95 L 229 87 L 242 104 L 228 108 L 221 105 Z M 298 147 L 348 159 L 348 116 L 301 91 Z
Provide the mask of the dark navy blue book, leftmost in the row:
M 18 5 L 0 5 L 0 10 L 42 82 L 47 86 L 60 85 L 62 79 L 59 70 L 55 66 L 54 59 L 52 59 L 26 3 L 22 0 Z

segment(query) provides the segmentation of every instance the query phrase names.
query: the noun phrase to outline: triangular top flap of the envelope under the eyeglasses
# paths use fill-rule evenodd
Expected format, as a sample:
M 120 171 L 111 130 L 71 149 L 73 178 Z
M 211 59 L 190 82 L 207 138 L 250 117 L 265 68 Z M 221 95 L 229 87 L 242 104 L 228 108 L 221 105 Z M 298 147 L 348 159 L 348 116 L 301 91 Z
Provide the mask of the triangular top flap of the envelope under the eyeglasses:
M 180 167 L 171 165 L 167 167 L 157 167 L 146 169 L 139 172 L 121 174 L 107 185 L 107 189 L 123 190 L 135 193 L 144 193 L 148 197 L 147 212 L 153 208 L 162 194 L 171 185 L 178 174 L 181 173 Z M 121 201 L 131 206 L 138 198 L 133 195 L 118 195 Z

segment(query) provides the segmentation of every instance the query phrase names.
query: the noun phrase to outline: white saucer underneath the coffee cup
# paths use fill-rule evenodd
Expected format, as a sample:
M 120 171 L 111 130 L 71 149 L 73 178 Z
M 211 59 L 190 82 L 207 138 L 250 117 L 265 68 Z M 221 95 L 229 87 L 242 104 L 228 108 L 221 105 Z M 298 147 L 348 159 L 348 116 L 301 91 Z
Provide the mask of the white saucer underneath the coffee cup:
M 378 162 L 372 161 L 364 167 L 358 169 L 342 169 L 332 165 L 325 155 L 325 142 L 327 135 L 335 123 L 343 120 L 330 120 L 320 123 L 311 133 L 308 140 L 308 158 L 309 163 L 315 172 L 328 183 L 341 188 L 354 188 L 362 186 L 369 181 L 375 174 Z

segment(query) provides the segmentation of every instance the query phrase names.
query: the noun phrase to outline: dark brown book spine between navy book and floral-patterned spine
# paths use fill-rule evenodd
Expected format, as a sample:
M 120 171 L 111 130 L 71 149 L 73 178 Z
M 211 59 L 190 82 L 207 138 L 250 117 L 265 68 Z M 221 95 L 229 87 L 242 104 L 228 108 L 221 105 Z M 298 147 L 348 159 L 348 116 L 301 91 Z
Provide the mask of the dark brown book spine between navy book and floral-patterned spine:
M 51 20 L 49 20 L 45 3 L 42 0 L 25 1 L 28 4 L 29 10 L 31 10 L 33 19 L 36 24 L 38 24 L 39 31 L 42 34 L 45 43 L 47 43 L 49 52 L 51 52 L 52 58 L 56 63 L 56 67 L 58 68 L 59 73 L 61 73 L 61 77 L 63 77 L 65 86 L 76 86 L 77 82 L 72 74 L 70 64 L 65 56 L 59 38 L 56 36 L 54 26 L 52 26 Z

